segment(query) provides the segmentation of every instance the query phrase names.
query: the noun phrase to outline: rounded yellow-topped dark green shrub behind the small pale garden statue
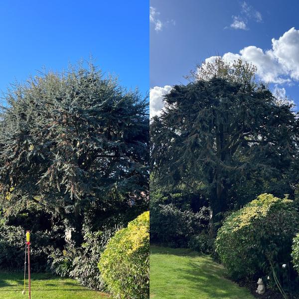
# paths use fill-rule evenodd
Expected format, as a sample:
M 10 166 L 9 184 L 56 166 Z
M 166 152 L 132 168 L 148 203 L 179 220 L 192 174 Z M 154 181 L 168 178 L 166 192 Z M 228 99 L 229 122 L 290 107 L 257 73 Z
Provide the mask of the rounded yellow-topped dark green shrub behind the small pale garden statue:
M 298 225 L 292 200 L 265 193 L 227 217 L 217 234 L 216 252 L 235 280 L 272 278 L 275 272 L 284 283 L 282 265 L 291 262 Z

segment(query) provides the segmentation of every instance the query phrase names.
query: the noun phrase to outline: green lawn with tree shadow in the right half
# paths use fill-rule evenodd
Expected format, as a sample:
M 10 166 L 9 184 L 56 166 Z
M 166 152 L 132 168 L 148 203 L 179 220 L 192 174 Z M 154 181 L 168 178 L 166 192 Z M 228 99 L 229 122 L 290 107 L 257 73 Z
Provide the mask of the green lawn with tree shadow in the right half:
M 189 249 L 151 246 L 149 286 L 150 299 L 254 299 L 221 265 Z

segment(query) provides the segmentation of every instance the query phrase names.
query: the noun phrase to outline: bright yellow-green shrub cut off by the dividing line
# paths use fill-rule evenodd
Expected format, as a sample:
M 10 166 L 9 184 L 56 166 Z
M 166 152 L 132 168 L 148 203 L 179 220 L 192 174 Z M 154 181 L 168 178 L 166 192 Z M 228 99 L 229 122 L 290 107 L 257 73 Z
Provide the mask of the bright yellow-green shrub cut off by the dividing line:
M 116 232 L 98 267 L 114 298 L 149 298 L 149 212 Z

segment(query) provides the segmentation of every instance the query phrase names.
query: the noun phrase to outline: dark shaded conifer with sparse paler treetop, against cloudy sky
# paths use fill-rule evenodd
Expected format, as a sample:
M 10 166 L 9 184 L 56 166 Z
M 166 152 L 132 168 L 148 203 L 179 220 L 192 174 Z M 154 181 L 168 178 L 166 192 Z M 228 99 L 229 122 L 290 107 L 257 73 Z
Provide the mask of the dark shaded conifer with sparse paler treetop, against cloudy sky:
M 240 205 L 244 182 L 259 187 L 253 188 L 256 196 L 278 182 L 297 156 L 293 105 L 278 103 L 255 81 L 255 71 L 241 59 L 203 64 L 193 82 L 173 86 L 164 113 L 150 125 L 155 177 L 162 185 L 200 189 L 214 219 L 228 204 Z

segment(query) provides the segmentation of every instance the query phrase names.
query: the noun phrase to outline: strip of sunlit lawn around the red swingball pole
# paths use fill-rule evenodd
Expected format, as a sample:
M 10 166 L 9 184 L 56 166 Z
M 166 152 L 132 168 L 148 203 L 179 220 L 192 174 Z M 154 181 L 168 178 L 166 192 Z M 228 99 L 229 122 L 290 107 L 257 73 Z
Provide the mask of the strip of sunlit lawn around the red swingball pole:
M 0 298 L 27 299 L 22 295 L 24 274 L 0 273 Z M 72 279 L 63 279 L 47 273 L 31 274 L 32 299 L 107 299 L 105 293 L 84 288 Z

